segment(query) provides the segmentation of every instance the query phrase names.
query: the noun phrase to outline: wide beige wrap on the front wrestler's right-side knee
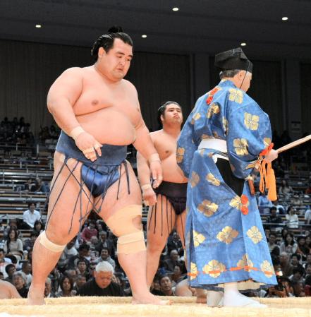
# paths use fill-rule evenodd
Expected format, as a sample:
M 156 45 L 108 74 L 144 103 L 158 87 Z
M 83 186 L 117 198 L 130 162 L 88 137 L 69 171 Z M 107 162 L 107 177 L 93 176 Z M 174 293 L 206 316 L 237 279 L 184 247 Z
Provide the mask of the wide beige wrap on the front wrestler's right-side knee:
M 133 219 L 138 216 L 142 216 L 142 206 L 128 205 L 106 220 L 106 225 L 118 237 L 118 253 L 130 254 L 146 250 L 142 229 L 133 225 Z

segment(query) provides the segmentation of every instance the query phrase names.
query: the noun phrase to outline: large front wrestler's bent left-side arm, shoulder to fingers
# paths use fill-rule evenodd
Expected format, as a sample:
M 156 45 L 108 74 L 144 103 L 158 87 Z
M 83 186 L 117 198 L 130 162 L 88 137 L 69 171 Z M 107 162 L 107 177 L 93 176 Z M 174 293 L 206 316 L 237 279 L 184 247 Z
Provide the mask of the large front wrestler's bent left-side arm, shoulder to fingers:
M 95 150 L 100 156 L 102 146 L 94 139 L 90 133 L 87 133 L 80 126 L 73 112 L 73 105 L 78 100 L 83 89 L 83 70 L 74 67 L 64 71 L 59 78 L 55 80 L 47 95 L 47 108 L 54 117 L 56 124 L 68 136 L 75 140 L 77 147 L 84 152 L 85 157 L 96 160 Z M 92 151 L 90 150 L 92 149 Z M 86 152 L 85 150 L 90 150 Z

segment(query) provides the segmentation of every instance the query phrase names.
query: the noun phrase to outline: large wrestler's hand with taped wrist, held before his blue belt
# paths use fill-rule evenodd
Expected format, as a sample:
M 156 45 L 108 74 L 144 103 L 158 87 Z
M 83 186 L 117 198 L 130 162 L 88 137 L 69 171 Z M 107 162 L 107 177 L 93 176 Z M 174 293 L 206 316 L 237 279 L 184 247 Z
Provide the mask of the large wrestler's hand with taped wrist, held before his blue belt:
M 97 159 L 96 153 L 98 156 L 102 155 L 102 150 L 100 149 L 102 148 L 102 144 L 90 133 L 80 133 L 79 136 L 75 138 L 75 145 L 83 152 L 87 160 L 91 160 L 92 162 Z

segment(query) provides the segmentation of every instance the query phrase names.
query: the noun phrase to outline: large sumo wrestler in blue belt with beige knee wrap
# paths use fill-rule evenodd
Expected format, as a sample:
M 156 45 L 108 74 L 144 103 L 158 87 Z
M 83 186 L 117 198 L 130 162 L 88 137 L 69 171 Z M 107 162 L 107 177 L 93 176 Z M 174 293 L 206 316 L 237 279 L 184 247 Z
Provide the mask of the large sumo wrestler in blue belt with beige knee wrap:
M 126 272 L 133 303 L 164 304 L 146 282 L 142 198 L 126 145 L 148 160 L 154 187 L 162 179 L 159 155 L 140 113 L 135 87 L 124 80 L 133 42 L 111 29 L 92 47 L 94 65 L 69 68 L 49 90 L 47 105 L 61 128 L 54 155 L 47 229 L 33 251 L 28 304 L 44 304 L 44 282 L 68 241 L 95 210 L 118 237 L 118 261 Z

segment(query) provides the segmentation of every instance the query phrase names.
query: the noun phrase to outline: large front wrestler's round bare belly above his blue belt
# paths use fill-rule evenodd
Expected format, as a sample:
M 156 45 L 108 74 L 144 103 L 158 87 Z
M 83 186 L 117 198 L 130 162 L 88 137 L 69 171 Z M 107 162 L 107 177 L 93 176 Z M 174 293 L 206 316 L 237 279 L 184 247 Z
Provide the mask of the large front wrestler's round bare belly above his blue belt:
M 135 128 L 122 112 L 111 107 L 76 117 L 81 126 L 99 143 L 128 145 L 135 139 Z

